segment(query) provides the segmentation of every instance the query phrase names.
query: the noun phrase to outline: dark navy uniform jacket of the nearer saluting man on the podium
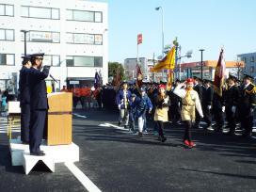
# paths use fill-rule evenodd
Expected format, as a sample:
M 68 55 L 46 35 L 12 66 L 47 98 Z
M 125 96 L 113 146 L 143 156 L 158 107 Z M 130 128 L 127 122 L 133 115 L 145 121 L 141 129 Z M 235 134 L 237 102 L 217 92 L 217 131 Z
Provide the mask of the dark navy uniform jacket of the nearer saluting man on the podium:
M 46 83 L 44 81 L 49 74 L 49 68 L 44 67 L 42 72 L 31 68 L 29 74 L 30 88 L 30 109 L 31 110 L 46 110 L 48 109 Z

